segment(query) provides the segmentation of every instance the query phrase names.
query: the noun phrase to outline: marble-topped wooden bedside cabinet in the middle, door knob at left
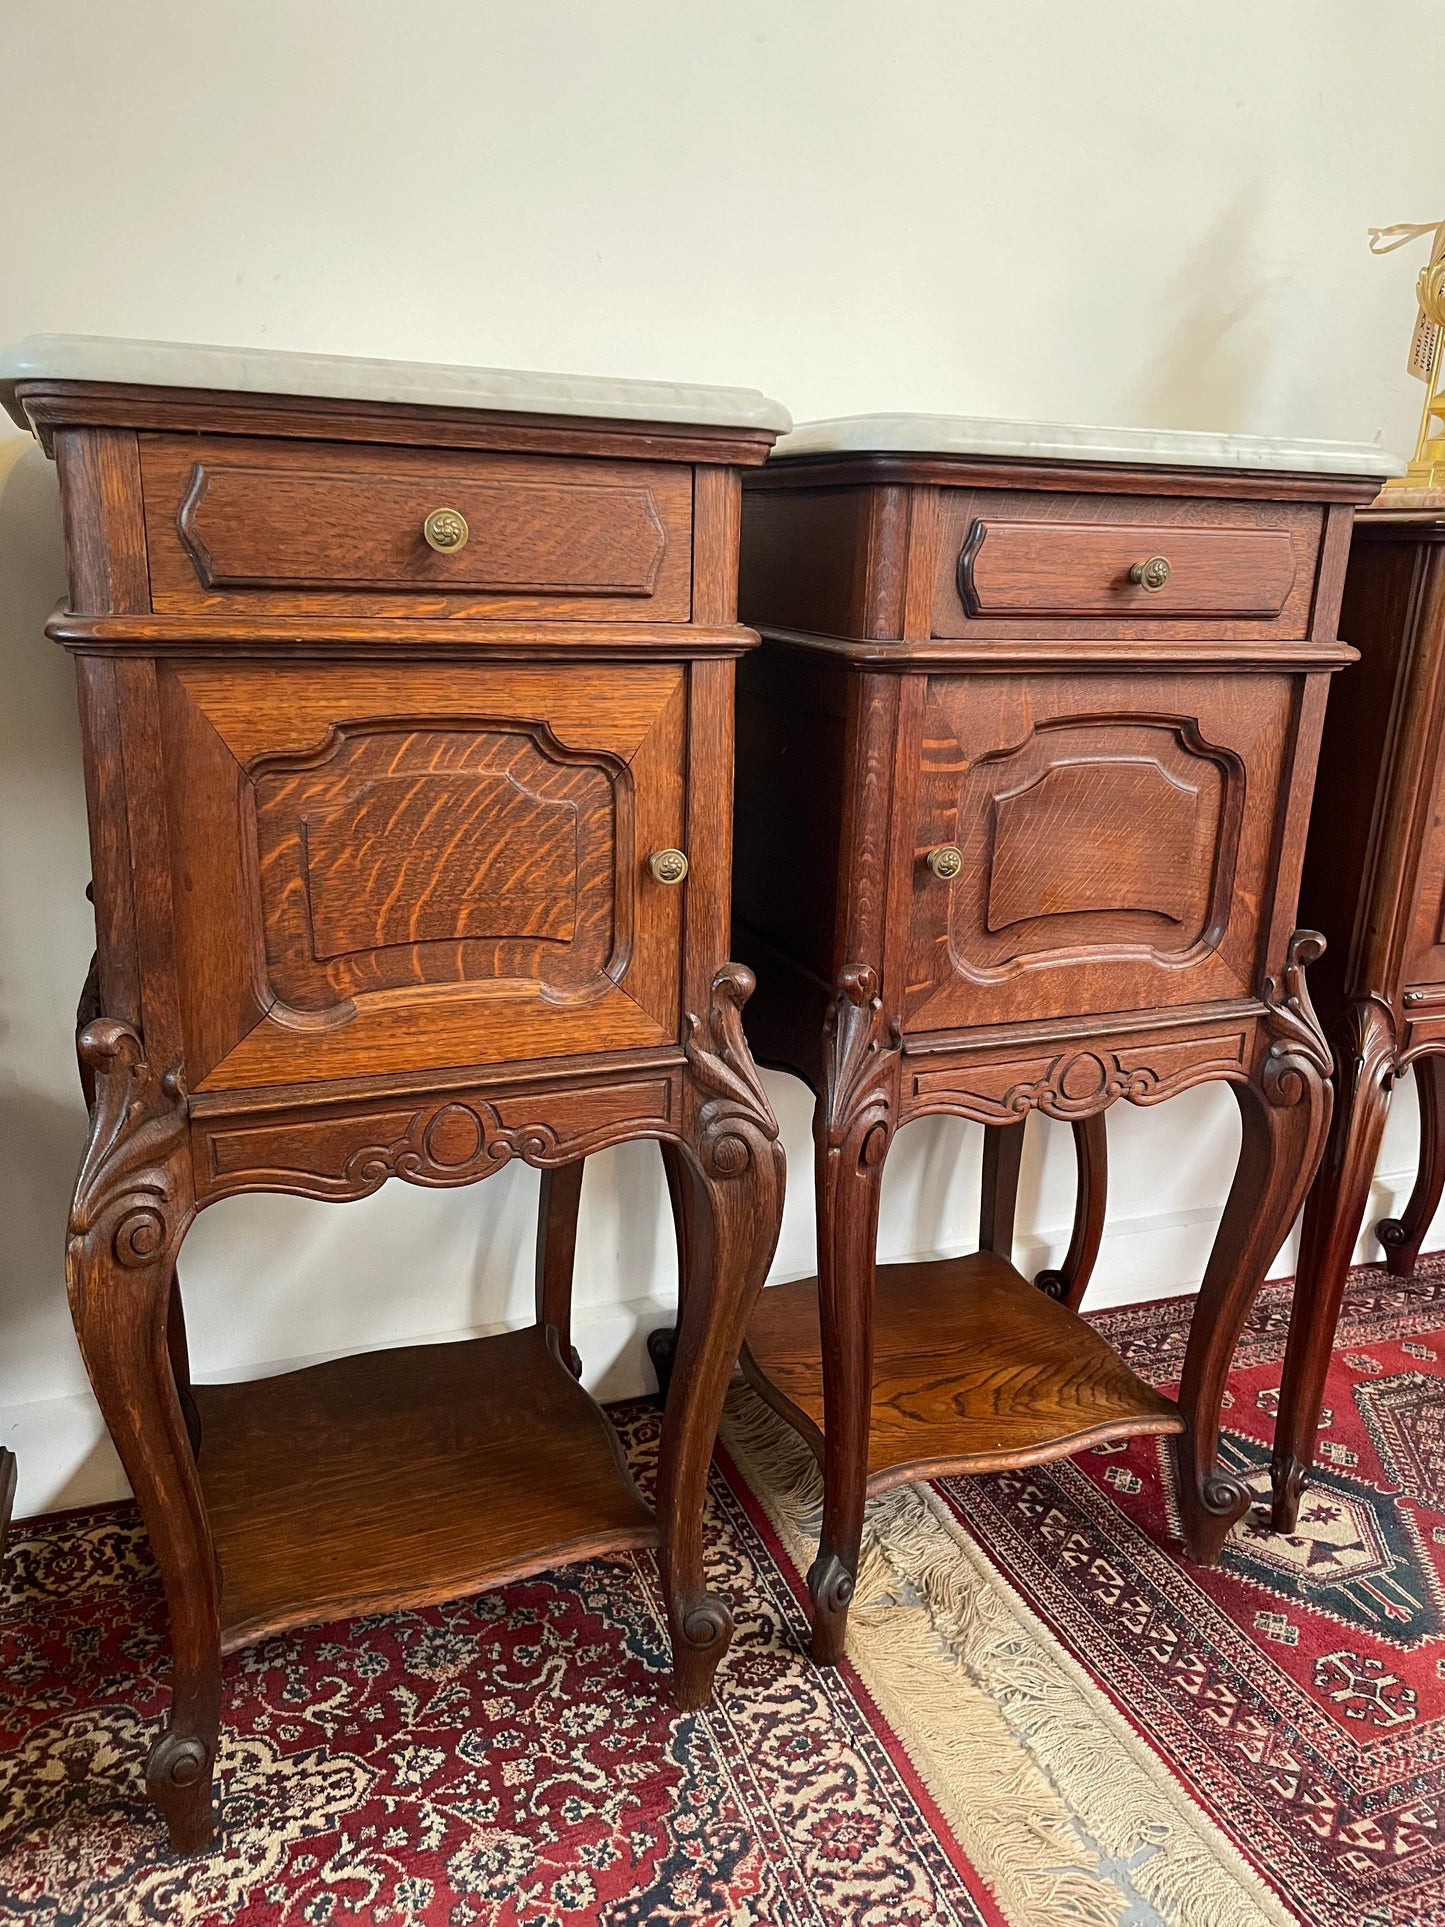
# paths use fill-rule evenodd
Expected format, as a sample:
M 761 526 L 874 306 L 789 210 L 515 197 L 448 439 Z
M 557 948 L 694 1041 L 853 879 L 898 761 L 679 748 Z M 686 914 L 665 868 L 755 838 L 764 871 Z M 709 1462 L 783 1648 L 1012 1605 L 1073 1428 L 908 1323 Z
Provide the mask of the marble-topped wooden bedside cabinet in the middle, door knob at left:
M 744 1362 L 823 1461 L 819 1659 L 894 1484 L 1171 1434 L 1195 1559 L 1248 1503 L 1220 1403 L 1327 1125 L 1295 894 L 1353 505 L 1387 468 L 873 416 L 748 480 L 734 950 L 759 1060 L 817 1091 L 819 1278 L 763 1293 Z M 1243 1148 L 1175 1403 L 1071 1305 L 1102 1112 L 1204 1079 Z M 1010 1262 L 1031 1110 L 1075 1125 L 1087 1179 L 1044 1291 Z M 875 1266 L 888 1147 L 931 1112 L 985 1125 L 985 1249 Z

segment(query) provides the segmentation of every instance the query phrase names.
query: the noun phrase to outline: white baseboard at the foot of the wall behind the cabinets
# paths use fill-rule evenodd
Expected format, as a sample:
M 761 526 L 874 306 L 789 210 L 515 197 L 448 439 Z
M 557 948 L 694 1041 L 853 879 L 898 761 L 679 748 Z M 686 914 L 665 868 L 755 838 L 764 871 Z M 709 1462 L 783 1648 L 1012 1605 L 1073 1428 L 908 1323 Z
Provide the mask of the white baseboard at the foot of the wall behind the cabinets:
M 1366 1227 L 1354 1247 L 1356 1264 L 1381 1256 L 1374 1226 L 1379 1218 L 1399 1214 L 1412 1183 L 1414 1172 L 1381 1172 L 1376 1177 Z M 1198 1289 L 1218 1222 L 1218 1210 L 1181 1210 L 1108 1224 L 1094 1281 L 1085 1301 L 1087 1308 L 1104 1310 L 1112 1305 L 1137 1305 L 1143 1299 L 1177 1297 Z M 1017 1237 L 1013 1260 L 1021 1272 L 1033 1276 L 1046 1264 L 1058 1264 L 1067 1243 L 1067 1226 L 1050 1231 L 1025 1229 Z M 1437 1251 L 1441 1245 L 1445 1245 L 1445 1214 L 1426 1237 L 1428 1251 Z M 929 1258 L 942 1256 L 942 1253 L 925 1251 L 911 1256 Z M 1295 1235 L 1279 1253 L 1270 1276 L 1287 1278 L 1293 1268 Z M 672 1316 L 672 1307 L 655 1297 L 578 1308 L 572 1335 L 582 1353 L 588 1389 L 601 1399 L 634 1399 L 653 1391 L 647 1333 L 659 1324 L 670 1324 Z M 476 1332 L 422 1333 L 408 1343 L 432 1345 L 482 1337 L 499 1330 L 505 1328 L 484 1326 Z M 335 1353 L 322 1357 L 335 1357 Z M 320 1364 L 322 1357 L 276 1359 L 222 1376 L 268 1378 L 299 1370 L 304 1364 Z M 102 1505 L 108 1499 L 121 1499 L 129 1491 L 119 1459 L 89 1393 L 10 1407 L 0 1418 L 0 1443 L 10 1445 L 19 1463 L 17 1518 L 73 1505 Z

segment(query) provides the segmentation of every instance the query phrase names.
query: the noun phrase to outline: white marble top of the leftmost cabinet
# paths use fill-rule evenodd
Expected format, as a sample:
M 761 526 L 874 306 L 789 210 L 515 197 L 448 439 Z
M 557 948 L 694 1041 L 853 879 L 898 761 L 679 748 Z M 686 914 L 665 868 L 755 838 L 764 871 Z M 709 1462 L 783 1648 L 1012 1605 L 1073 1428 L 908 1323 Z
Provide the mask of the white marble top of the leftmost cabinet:
M 399 401 L 426 409 L 503 409 L 586 414 L 617 422 L 690 422 L 705 428 L 790 428 L 792 416 L 755 387 L 692 387 L 599 374 L 530 374 L 524 368 L 451 368 L 443 362 L 289 355 L 191 341 L 116 341 L 108 335 L 27 335 L 0 349 L 0 403 L 27 426 L 15 383 L 127 382 L 141 387 L 216 387 L 245 395 L 326 395 Z

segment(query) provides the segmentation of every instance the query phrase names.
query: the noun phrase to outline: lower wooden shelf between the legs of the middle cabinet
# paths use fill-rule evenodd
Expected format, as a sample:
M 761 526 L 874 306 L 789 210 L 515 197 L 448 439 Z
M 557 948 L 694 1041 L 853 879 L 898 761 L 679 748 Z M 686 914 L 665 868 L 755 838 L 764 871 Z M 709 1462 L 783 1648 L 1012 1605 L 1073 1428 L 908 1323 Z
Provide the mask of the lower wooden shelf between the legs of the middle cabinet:
M 763 1293 L 744 1370 L 821 1453 L 815 1278 Z M 1173 1399 L 1137 1378 L 1077 1312 L 992 1253 L 879 1266 L 871 1493 L 911 1478 L 1000 1472 L 1106 1439 L 1183 1430 Z

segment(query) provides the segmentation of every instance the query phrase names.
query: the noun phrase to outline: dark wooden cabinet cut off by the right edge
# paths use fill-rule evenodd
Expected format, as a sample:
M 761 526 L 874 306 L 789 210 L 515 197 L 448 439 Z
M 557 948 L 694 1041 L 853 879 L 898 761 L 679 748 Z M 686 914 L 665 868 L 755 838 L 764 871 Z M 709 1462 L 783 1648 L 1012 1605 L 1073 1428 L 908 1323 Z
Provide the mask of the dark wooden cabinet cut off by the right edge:
M 1445 511 L 1354 522 L 1341 632 L 1360 661 L 1326 715 L 1300 913 L 1329 950 L 1314 973 L 1335 1048 L 1335 1116 L 1304 1206 L 1275 1422 L 1275 1528 L 1293 1532 L 1314 1463 L 1339 1299 L 1389 1095 L 1414 1069 L 1420 1174 L 1376 1235 L 1408 1278 L 1445 1187 Z

